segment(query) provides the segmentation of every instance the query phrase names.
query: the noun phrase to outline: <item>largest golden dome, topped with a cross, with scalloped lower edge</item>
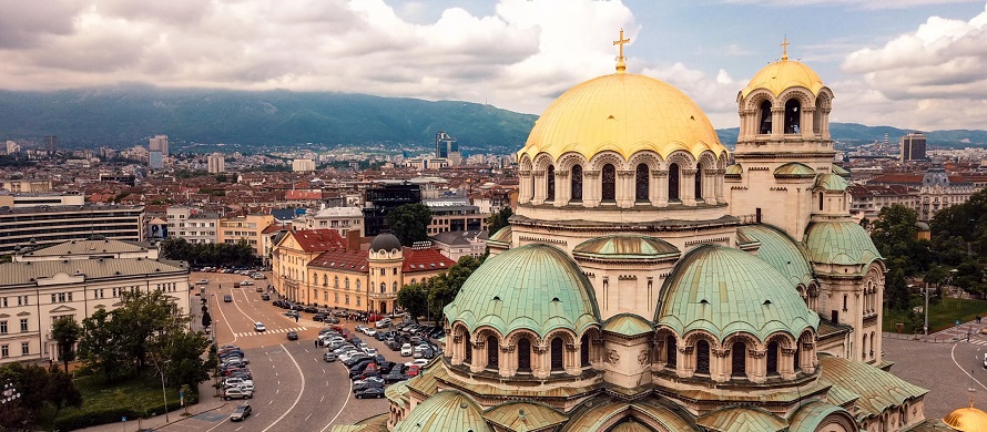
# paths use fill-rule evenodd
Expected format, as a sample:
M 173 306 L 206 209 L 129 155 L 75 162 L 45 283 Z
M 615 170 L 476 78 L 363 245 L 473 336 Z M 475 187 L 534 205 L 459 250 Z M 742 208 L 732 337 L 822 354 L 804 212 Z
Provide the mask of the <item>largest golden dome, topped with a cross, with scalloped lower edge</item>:
M 619 71 L 583 82 L 552 102 L 518 153 L 553 160 L 576 152 L 587 160 L 612 151 L 625 160 L 640 151 L 668 157 L 682 150 L 699 157 L 726 153 L 710 120 L 678 89 L 650 76 Z

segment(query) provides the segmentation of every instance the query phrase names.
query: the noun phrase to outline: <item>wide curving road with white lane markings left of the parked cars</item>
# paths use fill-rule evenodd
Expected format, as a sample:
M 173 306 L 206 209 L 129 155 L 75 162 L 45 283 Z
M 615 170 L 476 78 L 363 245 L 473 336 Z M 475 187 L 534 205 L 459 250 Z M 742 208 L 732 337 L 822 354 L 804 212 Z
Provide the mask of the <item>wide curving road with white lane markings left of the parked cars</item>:
M 269 275 L 268 275 L 269 276 Z M 323 348 L 315 348 L 320 322 L 311 321 L 302 313 L 296 322 L 283 315 L 284 309 L 262 300 L 261 286 L 268 280 L 254 280 L 257 286 L 233 288 L 234 281 L 246 280 L 242 275 L 193 272 L 191 280 L 208 279 L 205 297 L 218 344 L 235 343 L 251 361 L 256 391 L 246 401 L 233 400 L 220 410 L 203 413 L 171 424 L 164 431 L 327 431 L 333 424 L 347 424 L 387 412 L 387 400 L 358 400 L 349 391 L 349 376 L 339 362 L 326 363 Z M 233 301 L 224 302 L 231 295 Z M 199 312 L 196 310 L 196 312 Z M 194 318 L 193 327 L 201 327 L 201 317 Z M 261 321 L 266 331 L 254 331 L 254 322 Z M 353 328 L 353 323 L 344 325 Z M 288 331 L 297 331 L 298 340 L 287 340 Z M 365 339 L 366 338 L 362 338 Z M 398 361 L 397 352 L 372 338 L 368 344 L 376 347 L 388 360 Z M 409 360 L 409 359 L 408 359 Z M 202 398 L 211 398 L 203 394 Z M 227 421 L 230 413 L 241 403 L 250 403 L 253 415 L 246 421 Z

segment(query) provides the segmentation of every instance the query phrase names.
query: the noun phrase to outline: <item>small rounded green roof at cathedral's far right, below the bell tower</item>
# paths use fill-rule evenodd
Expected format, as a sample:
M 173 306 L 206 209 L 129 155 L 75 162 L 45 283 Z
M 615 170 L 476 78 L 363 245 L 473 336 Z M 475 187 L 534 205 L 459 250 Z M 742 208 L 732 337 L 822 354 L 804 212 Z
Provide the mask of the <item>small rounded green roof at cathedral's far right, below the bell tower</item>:
M 805 249 L 812 263 L 853 266 L 881 259 L 871 236 L 852 220 L 810 224 L 805 228 Z

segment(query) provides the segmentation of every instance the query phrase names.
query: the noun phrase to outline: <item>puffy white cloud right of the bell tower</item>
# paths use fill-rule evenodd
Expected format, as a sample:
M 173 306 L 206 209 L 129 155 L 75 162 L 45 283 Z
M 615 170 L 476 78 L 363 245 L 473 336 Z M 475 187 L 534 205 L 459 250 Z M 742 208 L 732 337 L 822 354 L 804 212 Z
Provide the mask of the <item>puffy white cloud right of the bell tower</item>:
M 897 112 L 887 124 L 987 127 L 987 11 L 969 21 L 932 17 L 884 47 L 848 54 L 842 68 L 885 99 L 879 111 Z

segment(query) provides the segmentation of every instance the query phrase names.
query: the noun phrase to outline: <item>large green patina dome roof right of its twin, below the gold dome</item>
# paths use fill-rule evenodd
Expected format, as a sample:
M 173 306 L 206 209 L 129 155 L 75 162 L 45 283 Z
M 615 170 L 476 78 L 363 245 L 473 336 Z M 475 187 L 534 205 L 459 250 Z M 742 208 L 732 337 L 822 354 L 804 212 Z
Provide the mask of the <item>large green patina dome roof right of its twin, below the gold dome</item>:
M 767 261 L 723 246 L 692 249 L 661 292 L 655 321 L 679 335 L 706 330 L 723 340 L 743 331 L 765 340 L 775 331 L 797 337 L 820 322 L 787 278 Z

